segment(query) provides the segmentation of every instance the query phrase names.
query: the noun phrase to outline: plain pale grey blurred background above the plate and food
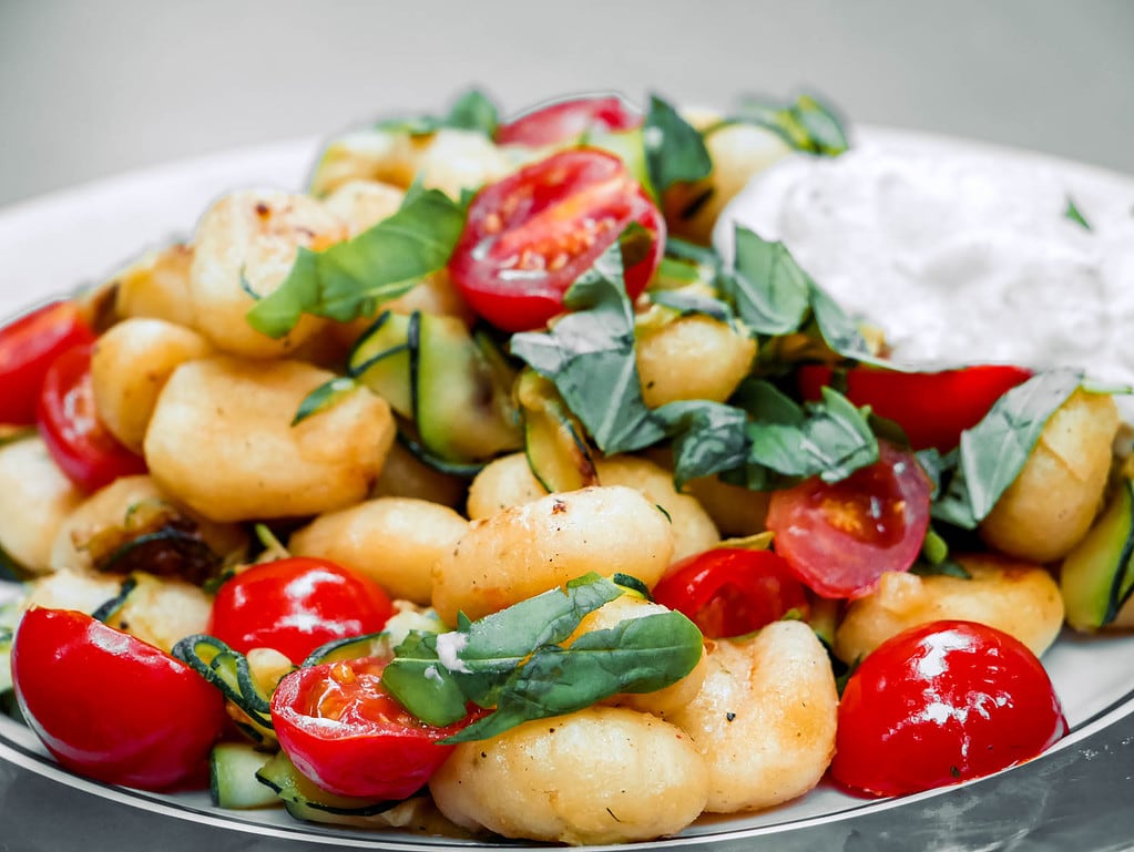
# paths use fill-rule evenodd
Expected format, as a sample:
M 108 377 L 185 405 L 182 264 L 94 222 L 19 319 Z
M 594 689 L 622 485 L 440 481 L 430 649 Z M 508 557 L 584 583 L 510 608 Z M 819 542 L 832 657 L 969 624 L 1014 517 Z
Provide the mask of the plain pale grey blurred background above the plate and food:
M 573 91 L 827 96 L 853 123 L 1134 173 L 1127 0 L 0 0 L 0 205 L 128 169 Z

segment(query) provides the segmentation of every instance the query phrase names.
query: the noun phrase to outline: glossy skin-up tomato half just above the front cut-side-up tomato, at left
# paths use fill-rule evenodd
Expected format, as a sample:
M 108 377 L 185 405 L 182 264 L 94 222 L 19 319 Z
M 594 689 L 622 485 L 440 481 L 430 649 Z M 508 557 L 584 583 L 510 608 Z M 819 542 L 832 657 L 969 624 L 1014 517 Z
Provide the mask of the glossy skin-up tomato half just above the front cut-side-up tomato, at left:
M 296 556 L 253 565 L 221 586 L 209 632 L 242 654 L 274 648 L 298 665 L 332 639 L 376 633 L 392 614 L 374 581 Z

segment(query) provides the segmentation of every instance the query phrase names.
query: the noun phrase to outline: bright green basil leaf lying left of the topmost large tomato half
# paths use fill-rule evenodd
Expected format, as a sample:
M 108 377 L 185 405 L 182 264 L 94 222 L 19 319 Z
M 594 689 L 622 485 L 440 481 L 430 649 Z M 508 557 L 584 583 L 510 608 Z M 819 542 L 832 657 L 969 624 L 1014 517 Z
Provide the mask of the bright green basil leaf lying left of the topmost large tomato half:
M 407 195 L 397 213 L 324 252 L 301 248 L 284 283 L 261 298 L 247 321 L 281 338 L 302 314 L 346 322 L 373 314 L 449 261 L 465 207 L 438 189 Z

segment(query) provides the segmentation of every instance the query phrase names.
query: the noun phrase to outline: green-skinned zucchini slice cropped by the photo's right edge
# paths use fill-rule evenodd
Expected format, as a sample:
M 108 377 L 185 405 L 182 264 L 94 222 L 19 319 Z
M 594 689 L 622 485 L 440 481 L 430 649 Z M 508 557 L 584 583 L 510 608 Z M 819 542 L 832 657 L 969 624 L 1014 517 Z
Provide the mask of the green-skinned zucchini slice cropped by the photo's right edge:
M 1134 593 L 1134 480 L 1123 479 L 1102 514 L 1064 559 L 1059 576 L 1067 623 L 1094 631 Z

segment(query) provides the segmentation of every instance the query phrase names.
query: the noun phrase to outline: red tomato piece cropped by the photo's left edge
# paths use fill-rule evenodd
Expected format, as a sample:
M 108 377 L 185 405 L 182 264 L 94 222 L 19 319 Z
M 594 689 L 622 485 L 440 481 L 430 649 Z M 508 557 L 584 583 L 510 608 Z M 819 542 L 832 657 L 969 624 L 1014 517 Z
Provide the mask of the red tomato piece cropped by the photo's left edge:
M 71 301 L 52 301 L 0 329 L 0 423 L 31 426 L 48 367 L 94 332 Z

